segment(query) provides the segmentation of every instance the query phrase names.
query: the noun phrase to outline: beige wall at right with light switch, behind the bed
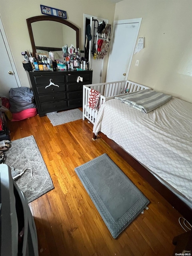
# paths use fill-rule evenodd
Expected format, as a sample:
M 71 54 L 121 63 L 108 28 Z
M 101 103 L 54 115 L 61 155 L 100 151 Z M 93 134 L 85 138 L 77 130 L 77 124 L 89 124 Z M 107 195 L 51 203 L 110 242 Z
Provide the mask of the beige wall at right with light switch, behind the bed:
M 145 37 L 145 48 L 134 55 L 129 80 L 192 102 L 191 10 L 191 0 L 116 4 L 114 20 L 143 18 L 139 37 Z

